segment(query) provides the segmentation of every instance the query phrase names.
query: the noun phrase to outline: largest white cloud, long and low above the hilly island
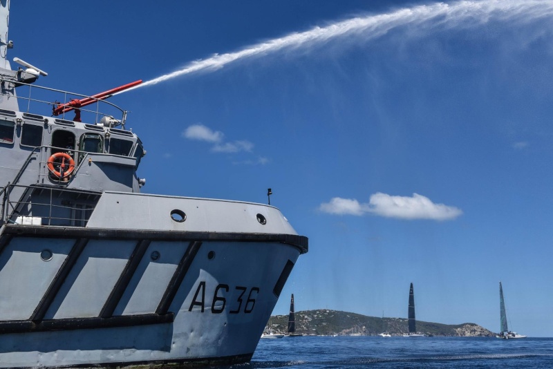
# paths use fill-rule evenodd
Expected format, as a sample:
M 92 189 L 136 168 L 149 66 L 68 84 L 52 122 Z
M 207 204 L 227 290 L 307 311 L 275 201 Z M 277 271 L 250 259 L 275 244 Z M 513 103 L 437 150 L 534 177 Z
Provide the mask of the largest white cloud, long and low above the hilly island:
M 413 197 L 391 196 L 373 193 L 367 203 L 355 199 L 332 198 L 320 205 L 319 210 L 328 214 L 355 215 L 374 214 L 385 218 L 451 220 L 462 214 L 462 210 L 444 204 L 435 204 L 429 198 L 413 193 Z

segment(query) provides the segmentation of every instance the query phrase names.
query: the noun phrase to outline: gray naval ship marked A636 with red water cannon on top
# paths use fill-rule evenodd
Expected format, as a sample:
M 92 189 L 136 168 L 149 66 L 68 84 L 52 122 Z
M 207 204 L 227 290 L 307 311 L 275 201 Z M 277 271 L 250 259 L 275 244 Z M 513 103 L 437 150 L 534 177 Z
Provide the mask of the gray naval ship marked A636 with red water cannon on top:
M 140 81 L 89 96 L 33 84 L 47 73 L 6 56 L 9 9 L 0 368 L 249 361 L 308 238 L 270 205 L 140 193 L 146 151 L 106 101 Z

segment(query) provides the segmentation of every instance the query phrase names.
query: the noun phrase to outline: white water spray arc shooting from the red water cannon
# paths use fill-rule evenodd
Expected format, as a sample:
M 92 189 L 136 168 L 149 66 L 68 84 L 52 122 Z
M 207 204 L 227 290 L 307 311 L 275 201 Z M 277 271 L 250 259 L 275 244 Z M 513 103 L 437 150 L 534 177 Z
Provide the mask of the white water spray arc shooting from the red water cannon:
M 315 48 L 338 37 L 359 36 L 364 41 L 385 35 L 400 27 L 417 28 L 469 28 L 489 21 L 525 23 L 536 19 L 553 17 L 553 2 L 543 0 L 485 0 L 435 3 L 433 5 L 402 8 L 393 12 L 366 17 L 355 17 L 324 27 L 315 27 L 305 32 L 292 33 L 270 39 L 234 53 L 214 55 L 208 59 L 192 61 L 184 68 L 150 79 L 126 91 L 165 82 L 169 79 L 200 71 L 213 71 L 234 61 L 261 57 L 270 53 L 293 48 Z M 124 92 L 124 91 L 122 91 Z M 122 93 L 120 92 L 120 93 Z

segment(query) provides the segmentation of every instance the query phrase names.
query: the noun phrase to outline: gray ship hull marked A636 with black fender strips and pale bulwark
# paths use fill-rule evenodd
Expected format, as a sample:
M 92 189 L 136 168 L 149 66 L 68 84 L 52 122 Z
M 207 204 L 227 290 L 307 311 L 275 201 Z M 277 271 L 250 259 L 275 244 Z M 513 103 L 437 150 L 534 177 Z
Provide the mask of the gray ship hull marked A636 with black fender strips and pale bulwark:
M 158 213 L 165 201 L 191 209 L 180 223 L 191 229 L 174 229 L 169 211 L 155 230 L 3 226 L 0 368 L 250 360 L 307 239 L 277 209 L 245 202 L 104 193 L 94 214 L 102 201 L 132 198 L 157 200 Z M 217 209 L 235 216 L 213 223 L 218 231 L 192 227 Z M 265 225 L 240 218 L 259 211 Z M 118 209 L 104 215 L 88 225 L 111 222 Z

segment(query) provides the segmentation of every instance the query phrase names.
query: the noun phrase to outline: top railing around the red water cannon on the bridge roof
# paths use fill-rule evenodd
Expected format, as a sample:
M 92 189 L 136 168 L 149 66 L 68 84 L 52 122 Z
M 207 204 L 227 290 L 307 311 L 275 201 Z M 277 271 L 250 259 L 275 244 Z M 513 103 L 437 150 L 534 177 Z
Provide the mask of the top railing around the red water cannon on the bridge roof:
M 0 76 L 0 82 L 11 82 L 10 79 L 6 79 Z M 99 123 L 102 117 L 117 117 L 120 115 L 121 124 L 125 124 L 126 120 L 126 111 L 124 111 L 119 106 L 112 104 L 109 101 L 106 101 L 106 97 L 103 98 L 96 98 L 88 95 L 82 95 L 79 93 L 73 93 L 69 91 L 63 91 L 63 90 L 57 90 L 56 88 L 49 88 L 44 86 L 39 86 L 35 84 L 26 84 L 22 82 L 17 82 L 18 86 L 18 93 L 15 97 L 17 98 L 17 101 L 23 101 L 26 103 L 26 110 L 24 108 L 21 108 L 20 111 L 24 113 L 33 113 L 33 114 L 39 114 L 39 115 L 45 115 L 50 116 L 53 115 L 53 110 L 56 106 L 59 106 L 60 104 L 66 104 L 68 102 L 71 102 L 71 100 L 79 99 L 82 100 L 84 98 L 86 99 L 92 99 L 95 101 L 95 103 L 90 104 L 92 108 L 84 108 L 81 107 L 78 110 L 82 113 L 88 113 L 87 117 L 90 115 L 93 115 L 93 120 L 86 120 L 86 122 L 93 122 L 93 123 Z M 23 93 L 21 93 L 21 86 L 24 86 L 25 88 L 28 88 L 28 95 L 24 96 Z M 8 96 L 13 97 L 12 93 L 1 93 L 0 96 Z M 51 97 L 50 97 L 51 96 Z M 36 107 L 38 106 L 38 107 Z M 48 109 L 44 109 L 48 107 Z M 31 111 L 32 108 L 32 111 Z M 100 108 L 102 108 L 102 111 L 100 111 Z M 46 110 L 46 111 L 45 111 Z M 75 110 L 75 109 L 73 109 Z M 45 114 L 40 114 L 41 111 L 44 111 Z M 61 113 L 60 115 L 57 115 L 59 119 L 66 119 L 66 115 L 71 113 Z M 68 120 L 72 120 L 71 118 Z M 82 118 L 82 121 L 85 122 L 85 120 Z

